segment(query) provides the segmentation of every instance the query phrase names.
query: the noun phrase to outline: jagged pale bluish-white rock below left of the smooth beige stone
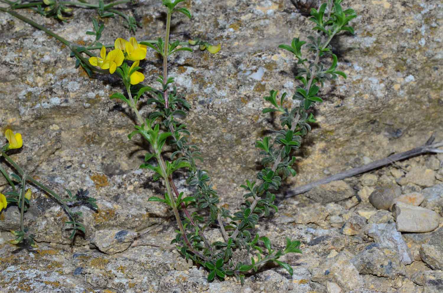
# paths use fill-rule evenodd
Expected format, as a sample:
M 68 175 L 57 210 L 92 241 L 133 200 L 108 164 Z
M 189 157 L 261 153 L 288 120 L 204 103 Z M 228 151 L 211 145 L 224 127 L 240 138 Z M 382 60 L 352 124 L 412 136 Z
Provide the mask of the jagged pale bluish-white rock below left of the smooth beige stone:
M 396 250 L 401 259 L 401 263 L 412 263 L 413 258 L 408 245 L 401 237 L 401 233 L 395 228 L 395 224 L 369 224 L 365 227 L 365 233 L 372 237 L 380 247 L 389 247 Z

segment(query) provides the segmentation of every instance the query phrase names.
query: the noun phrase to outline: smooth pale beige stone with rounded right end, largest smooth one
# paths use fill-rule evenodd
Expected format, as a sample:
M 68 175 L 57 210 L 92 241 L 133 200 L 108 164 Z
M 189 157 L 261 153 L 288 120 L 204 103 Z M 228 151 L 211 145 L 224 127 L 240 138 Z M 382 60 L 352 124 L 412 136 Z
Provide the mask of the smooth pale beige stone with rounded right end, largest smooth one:
M 430 232 L 440 224 L 440 217 L 434 211 L 402 202 L 393 206 L 392 216 L 400 232 Z

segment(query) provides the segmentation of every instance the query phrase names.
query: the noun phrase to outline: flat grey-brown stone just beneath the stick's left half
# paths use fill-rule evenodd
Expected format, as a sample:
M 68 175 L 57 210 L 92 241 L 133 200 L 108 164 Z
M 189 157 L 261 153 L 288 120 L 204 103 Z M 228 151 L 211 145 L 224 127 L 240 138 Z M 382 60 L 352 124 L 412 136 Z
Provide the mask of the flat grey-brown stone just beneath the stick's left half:
M 309 190 L 306 196 L 316 202 L 338 202 L 353 197 L 354 190 L 348 183 L 338 180 L 316 186 Z

